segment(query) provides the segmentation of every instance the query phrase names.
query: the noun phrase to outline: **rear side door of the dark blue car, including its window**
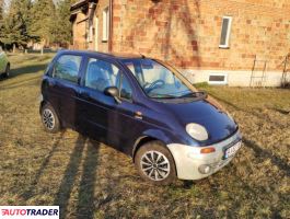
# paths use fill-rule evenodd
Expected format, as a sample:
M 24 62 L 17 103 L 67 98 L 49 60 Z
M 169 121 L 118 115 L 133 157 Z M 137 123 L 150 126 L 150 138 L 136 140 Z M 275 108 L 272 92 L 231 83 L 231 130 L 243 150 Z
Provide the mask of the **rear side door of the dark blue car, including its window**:
M 49 102 L 59 113 L 66 127 L 76 129 L 78 124 L 77 93 L 82 56 L 63 54 L 55 61 L 48 79 Z

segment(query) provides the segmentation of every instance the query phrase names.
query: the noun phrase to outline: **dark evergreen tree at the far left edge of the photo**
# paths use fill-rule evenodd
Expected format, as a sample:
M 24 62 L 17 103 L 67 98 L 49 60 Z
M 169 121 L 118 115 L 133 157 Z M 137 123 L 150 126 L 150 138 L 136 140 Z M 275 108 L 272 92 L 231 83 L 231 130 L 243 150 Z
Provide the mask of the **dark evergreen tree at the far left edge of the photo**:
M 3 44 L 22 46 L 26 48 L 31 39 L 28 26 L 31 0 L 12 0 L 10 2 L 8 14 L 2 14 L 2 25 L 0 32 L 0 42 Z

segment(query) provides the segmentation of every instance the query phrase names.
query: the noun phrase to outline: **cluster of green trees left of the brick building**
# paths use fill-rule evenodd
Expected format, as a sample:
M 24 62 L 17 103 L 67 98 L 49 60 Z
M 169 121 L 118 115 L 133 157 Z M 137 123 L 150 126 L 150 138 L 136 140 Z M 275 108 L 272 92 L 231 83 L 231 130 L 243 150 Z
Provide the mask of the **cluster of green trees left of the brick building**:
M 10 1 L 9 7 L 3 7 Z M 56 4 L 54 3 L 56 2 Z M 71 42 L 70 5 L 74 0 L 0 0 L 0 46 L 26 48 L 30 42 L 44 46 Z M 4 10 L 3 10 L 4 8 Z

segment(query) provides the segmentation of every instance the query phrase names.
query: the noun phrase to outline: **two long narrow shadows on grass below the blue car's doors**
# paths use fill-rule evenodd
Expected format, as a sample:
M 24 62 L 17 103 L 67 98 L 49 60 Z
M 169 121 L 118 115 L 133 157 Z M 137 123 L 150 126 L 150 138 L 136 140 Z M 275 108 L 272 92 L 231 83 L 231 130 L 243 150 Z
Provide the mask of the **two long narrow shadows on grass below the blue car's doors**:
M 59 206 L 60 217 L 66 218 L 68 214 L 69 199 L 76 184 L 86 137 L 79 135 L 74 149 L 70 155 L 70 161 L 56 194 L 54 205 Z M 79 185 L 79 197 L 77 214 L 78 218 L 93 218 L 94 214 L 94 187 L 96 180 L 96 166 L 98 145 L 93 147 L 89 140 L 86 154 L 83 161 L 82 176 Z M 94 143 L 95 145 L 95 143 Z

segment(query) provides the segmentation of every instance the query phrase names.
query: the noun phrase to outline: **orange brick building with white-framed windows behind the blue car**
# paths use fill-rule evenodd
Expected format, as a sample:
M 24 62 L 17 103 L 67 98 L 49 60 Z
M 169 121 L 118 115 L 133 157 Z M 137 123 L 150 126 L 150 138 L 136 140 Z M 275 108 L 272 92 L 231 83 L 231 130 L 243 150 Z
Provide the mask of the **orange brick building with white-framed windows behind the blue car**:
M 70 20 L 72 48 L 165 59 L 192 82 L 280 85 L 290 68 L 289 0 L 81 0 Z

